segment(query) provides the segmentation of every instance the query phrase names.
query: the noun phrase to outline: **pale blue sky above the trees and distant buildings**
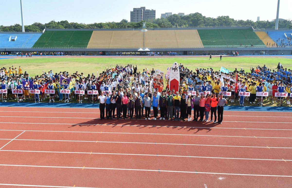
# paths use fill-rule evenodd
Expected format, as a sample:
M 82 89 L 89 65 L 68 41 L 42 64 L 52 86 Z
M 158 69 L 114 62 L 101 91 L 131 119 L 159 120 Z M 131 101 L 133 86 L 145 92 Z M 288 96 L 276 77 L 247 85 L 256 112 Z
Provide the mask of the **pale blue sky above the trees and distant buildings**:
M 179 12 L 184 12 L 185 14 L 200 12 L 207 17 L 226 15 L 234 19 L 251 19 L 256 21 L 258 16 L 260 16 L 260 20 L 275 19 L 277 11 L 277 0 L 22 0 L 22 4 L 25 25 L 30 25 L 34 22 L 48 23 L 53 19 L 55 21 L 68 20 L 69 22 L 86 24 L 94 22 L 119 22 L 122 19 L 130 21 L 130 11 L 141 6 L 156 10 L 156 18 L 160 18 L 161 13 L 164 12 L 172 12 L 173 14 Z M 11 5 L 14 5 L 14 8 Z M 292 0 L 281 0 L 279 17 L 292 19 L 291 10 L 288 10 L 286 7 L 291 9 Z M 2 18 L 0 25 L 21 24 L 20 0 L 9 0 L 9 2 L 2 3 L 0 17 Z

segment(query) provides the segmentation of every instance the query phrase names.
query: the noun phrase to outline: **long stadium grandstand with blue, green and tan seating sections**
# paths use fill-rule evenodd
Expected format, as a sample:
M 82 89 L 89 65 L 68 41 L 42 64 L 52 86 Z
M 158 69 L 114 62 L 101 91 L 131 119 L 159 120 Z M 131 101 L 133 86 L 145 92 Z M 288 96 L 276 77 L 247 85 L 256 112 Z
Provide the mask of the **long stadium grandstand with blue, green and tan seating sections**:
M 238 51 L 292 54 L 292 30 L 255 30 L 250 26 L 198 28 L 45 29 L 0 32 L 0 51 L 66 51 L 117 55 L 119 51 L 174 51 L 178 55 Z M 139 52 L 141 54 L 141 52 Z M 145 52 L 142 52 L 145 54 Z

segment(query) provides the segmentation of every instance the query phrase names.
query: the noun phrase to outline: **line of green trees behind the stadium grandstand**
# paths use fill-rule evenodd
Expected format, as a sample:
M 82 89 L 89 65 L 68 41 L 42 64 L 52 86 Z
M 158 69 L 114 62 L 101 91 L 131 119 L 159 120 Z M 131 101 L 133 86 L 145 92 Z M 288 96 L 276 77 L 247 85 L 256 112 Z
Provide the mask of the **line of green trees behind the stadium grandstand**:
M 196 12 L 192 15 L 180 16 L 173 14 L 168 18 L 147 19 L 142 22 L 128 22 L 122 19 L 121 22 L 105 22 L 105 23 L 69 23 L 67 20 L 55 22 L 52 20 L 49 23 L 42 24 L 35 22 L 32 25 L 25 26 L 25 31 L 43 31 L 44 28 L 142 28 L 143 22 L 147 22 L 147 28 L 161 28 L 161 27 L 212 27 L 212 26 L 253 26 L 255 29 L 273 29 L 275 28 L 275 21 L 257 21 L 252 20 L 235 20 L 229 16 L 219 16 L 211 18 L 203 16 Z M 290 19 L 279 19 L 279 28 L 292 28 L 292 21 Z M 21 25 L 15 24 L 11 26 L 0 26 L 0 31 L 21 31 Z

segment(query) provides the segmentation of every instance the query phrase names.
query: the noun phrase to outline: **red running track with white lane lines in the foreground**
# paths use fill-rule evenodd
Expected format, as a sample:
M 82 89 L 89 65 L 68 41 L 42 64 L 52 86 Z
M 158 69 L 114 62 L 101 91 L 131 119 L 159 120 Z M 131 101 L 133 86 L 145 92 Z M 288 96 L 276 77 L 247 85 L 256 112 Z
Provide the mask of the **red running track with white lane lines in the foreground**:
M 291 187 L 289 112 L 226 111 L 214 124 L 1 111 L 0 187 Z

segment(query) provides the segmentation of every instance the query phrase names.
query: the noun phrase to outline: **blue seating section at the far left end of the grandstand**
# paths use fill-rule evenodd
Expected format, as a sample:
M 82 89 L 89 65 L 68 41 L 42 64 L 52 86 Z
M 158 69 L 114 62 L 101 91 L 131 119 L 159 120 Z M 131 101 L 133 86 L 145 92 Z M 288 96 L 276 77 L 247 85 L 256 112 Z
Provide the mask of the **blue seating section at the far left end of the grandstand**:
M 17 36 L 15 41 L 9 41 L 10 36 Z M 34 43 L 39 39 L 41 33 L 5 33 L 0 34 L 0 48 L 31 48 Z

